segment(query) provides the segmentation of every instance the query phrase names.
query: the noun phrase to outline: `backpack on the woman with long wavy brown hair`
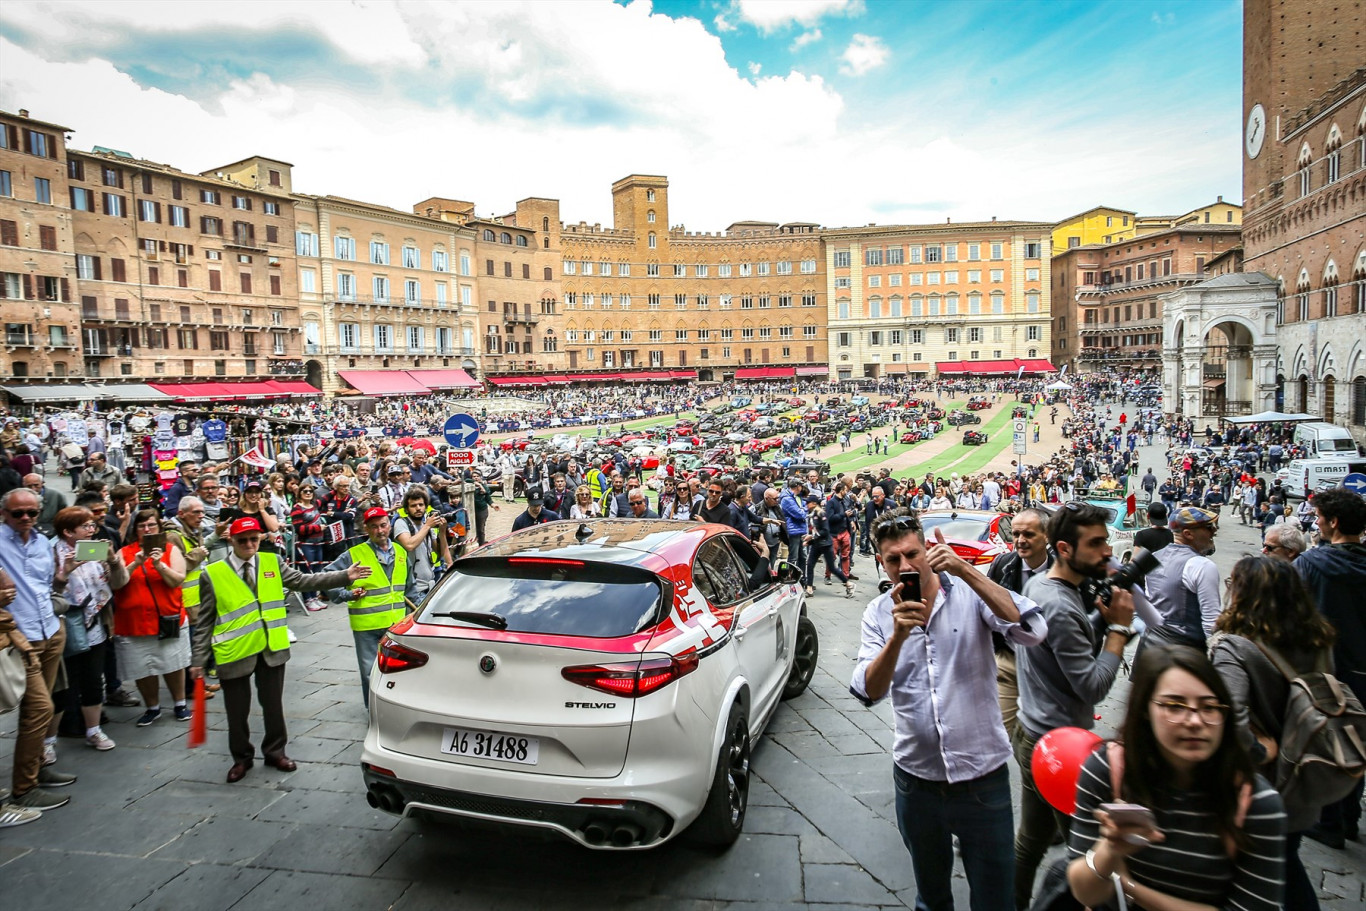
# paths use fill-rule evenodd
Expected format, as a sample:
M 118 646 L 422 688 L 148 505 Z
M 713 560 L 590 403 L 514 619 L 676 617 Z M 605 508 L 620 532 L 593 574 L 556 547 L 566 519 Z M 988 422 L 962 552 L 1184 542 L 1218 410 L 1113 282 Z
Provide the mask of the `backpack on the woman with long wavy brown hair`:
M 1276 789 L 1288 807 L 1322 807 L 1347 796 L 1366 774 L 1366 709 L 1328 673 L 1324 650 L 1309 673 L 1273 647 L 1257 642 L 1290 682 L 1285 718 L 1276 753 Z

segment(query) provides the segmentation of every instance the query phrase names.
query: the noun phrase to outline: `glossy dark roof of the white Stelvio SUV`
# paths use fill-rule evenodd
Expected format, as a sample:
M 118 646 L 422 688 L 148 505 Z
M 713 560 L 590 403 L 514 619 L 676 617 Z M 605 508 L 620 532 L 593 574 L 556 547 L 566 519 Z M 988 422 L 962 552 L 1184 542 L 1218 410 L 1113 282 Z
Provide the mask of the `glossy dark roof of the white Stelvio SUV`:
M 579 539 L 579 529 L 585 526 L 591 534 Z M 702 542 L 717 534 L 724 534 L 724 529 L 678 519 L 546 522 L 492 541 L 470 556 L 590 560 L 661 572 L 690 561 Z

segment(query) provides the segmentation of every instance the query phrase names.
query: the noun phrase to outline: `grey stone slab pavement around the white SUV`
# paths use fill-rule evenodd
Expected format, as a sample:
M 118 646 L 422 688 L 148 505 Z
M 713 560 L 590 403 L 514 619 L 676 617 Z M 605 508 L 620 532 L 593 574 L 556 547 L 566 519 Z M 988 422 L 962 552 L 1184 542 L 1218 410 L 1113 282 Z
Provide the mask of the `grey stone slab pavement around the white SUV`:
M 1253 530 L 1225 522 L 1221 571 L 1255 546 Z M 209 702 L 209 742 L 197 750 L 186 748 L 183 724 L 137 728 L 138 709 L 109 709 L 107 731 L 119 743 L 112 753 L 59 742 L 57 768 L 79 776 L 67 791 L 71 803 L 0 830 L 0 885 L 5 895 L 31 896 L 34 907 L 108 911 L 914 906 L 892 810 L 891 709 L 865 709 L 847 690 L 876 575 L 867 559 L 855 571 L 862 580 L 854 600 L 817 582 L 810 609 L 821 635 L 820 669 L 755 748 L 744 835 L 725 854 L 673 843 L 609 855 L 370 810 L 358 768 L 359 679 L 346 613 L 333 608 L 291 615 L 299 642 L 285 712 L 298 772 L 258 763 L 243 781 L 225 784 L 221 699 Z M 1098 710 L 1102 735 L 1117 724 L 1126 690 L 1121 680 Z M 258 714 L 254 724 L 260 733 Z M 0 769 L 10 768 L 14 728 L 14 713 L 0 718 Z M 1012 777 L 1018 787 L 1014 770 Z M 1366 907 L 1366 845 L 1330 851 L 1306 841 L 1303 854 L 1325 908 Z M 958 907 L 966 908 L 966 881 L 959 877 L 956 886 Z

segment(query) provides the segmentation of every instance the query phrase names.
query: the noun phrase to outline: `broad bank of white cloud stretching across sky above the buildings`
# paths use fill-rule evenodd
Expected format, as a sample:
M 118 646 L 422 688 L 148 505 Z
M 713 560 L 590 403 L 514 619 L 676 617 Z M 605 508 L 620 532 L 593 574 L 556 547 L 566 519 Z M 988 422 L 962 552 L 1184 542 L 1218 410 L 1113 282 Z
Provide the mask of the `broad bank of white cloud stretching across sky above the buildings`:
M 481 214 L 544 195 L 560 199 L 571 224 L 611 224 L 609 187 L 628 173 L 667 175 L 669 221 L 699 231 L 742 217 L 1049 220 L 1098 201 L 1183 210 L 1240 186 L 1239 124 L 1212 126 L 1203 109 L 1164 130 L 1097 131 L 1052 104 L 986 117 L 990 97 L 944 105 L 876 75 L 841 96 L 817 75 L 731 66 L 703 23 L 642 1 L 350 4 L 359 12 L 343 16 L 281 0 L 260 11 L 294 23 L 276 29 L 325 33 L 336 55 L 324 46 L 313 64 L 268 55 L 221 79 L 212 70 L 220 49 L 246 53 L 270 36 L 229 30 L 243 18 L 238 5 L 182 5 L 191 25 L 179 30 L 175 18 L 123 4 L 0 5 L 0 22 L 23 19 L 38 36 L 33 45 L 0 38 L 0 108 L 71 127 L 76 148 L 191 172 L 264 154 L 292 161 L 302 193 L 398 209 L 443 195 L 474 199 Z M 146 41 L 149 30 L 168 40 Z M 365 48 L 370 30 L 380 41 Z M 108 52 L 92 51 L 92 36 Z M 145 51 L 180 45 L 197 51 Z M 146 71 L 172 74 L 158 85 L 175 90 L 146 85 Z

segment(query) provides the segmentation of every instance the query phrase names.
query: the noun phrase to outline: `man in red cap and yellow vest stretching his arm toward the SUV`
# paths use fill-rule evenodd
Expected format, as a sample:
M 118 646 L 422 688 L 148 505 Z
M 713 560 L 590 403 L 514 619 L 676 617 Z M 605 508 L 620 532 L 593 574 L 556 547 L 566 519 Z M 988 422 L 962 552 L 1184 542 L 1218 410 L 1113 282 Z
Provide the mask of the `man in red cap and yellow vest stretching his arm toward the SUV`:
M 208 564 L 199 576 L 199 619 L 194 627 L 190 672 L 198 677 L 212 650 L 228 716 L 228 750 L 232 753 L 228 783 L 240 781 L 255 757 L 247 724 L 253 676 L 265 721 L 261 740 L 265 763 L 281 772 L 295 769 L 294 759 L 284 754 L 288 740 L 284 664 L 290 660 L 284 590 L 335 589 L 370 575 L 363 565 L 340 572 L 299 572 L 273 553 L 260 553 L 261 534 L 261 523 L 253 516 L 235 520 L 228 529 L 231 553 Z

